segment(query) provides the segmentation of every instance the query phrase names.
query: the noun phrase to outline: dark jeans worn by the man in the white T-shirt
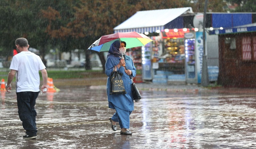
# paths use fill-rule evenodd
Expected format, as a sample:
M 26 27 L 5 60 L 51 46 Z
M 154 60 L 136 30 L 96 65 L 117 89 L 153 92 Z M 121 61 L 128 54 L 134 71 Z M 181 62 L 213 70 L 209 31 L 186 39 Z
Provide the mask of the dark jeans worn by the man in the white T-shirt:
M 16 94 L 18 113 L 23 128 L 28 135 L 37 135 L 35 104 L 39 92 L 18 92 Z

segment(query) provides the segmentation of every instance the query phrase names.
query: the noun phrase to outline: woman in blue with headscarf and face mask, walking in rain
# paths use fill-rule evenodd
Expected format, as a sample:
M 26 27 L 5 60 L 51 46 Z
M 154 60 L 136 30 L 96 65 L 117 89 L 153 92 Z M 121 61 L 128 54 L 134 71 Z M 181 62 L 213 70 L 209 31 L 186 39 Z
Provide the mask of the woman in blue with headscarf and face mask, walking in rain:
M 109 118 L 111 128 L 116 131 L 116 122 L 119 123 L 121 134 L 131 135 L 130 128 L 130 115 L 134 110 L 134 103 L 132 98 L 132 77 L 136 76 L 136 68 L 132 59 L 125 55 L 126 43 L 124 41 L 115 41 L 111 44 L 108 51 L 107 62 L 105 64 L 107 78 L 107 95 L 108 107 L 115 109 L 115 113 Z M 125 65 L 125 67 L 123 67 Z M 110 75 L 113 71 L 122 73 L 122 79 L 126 94 L 110 95 Z

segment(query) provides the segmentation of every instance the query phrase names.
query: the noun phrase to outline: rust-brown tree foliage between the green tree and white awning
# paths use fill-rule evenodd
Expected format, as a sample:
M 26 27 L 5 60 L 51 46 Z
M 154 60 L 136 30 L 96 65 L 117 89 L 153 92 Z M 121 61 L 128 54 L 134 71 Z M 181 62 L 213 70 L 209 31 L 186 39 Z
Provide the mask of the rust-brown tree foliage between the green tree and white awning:
M 116 1 L 116 0 L 90 0 L 81 1 L 80 5 L 74 7 L 75 14 L 71 22 L 54 27 L 52 22 L 53 18 L 56 20 L 60 19 L 60 14 L 52 8 L 48 8 L 49 14 L 56 14 L 57 16 L 49 17 L 49 26 L 47 28 L 48 34 L 53 38 L 73 38 L 81 41 L 86 47 L 89 47 L 95 40 L 100 38 L 102 35 L 113 33 L 113 28 L 123 21 L 127 20 L 129 17 L 134 15 L 137 11 L 141 10 L 153 10 L 153 9 L 166 9 L 174 8 L 177 6 L 189 6 L 186 0 L 182 2 L 179 0 L 175 1 L 162 1 L 162 0 L 142 0 L 142 1 Z M 51 19 L 52 18 L 52 19 Z M 82 43 L 83 42 L 83 43 Z M 85 49 L 86 50 L 86 49 Z M 105 58 L 103 53 L 98 53 L 102 65 L 103 72 L 105 66 Z M 88 64 L 89 61 L 87 61 Z M 88 67 L 88 66 L 87 66 Z

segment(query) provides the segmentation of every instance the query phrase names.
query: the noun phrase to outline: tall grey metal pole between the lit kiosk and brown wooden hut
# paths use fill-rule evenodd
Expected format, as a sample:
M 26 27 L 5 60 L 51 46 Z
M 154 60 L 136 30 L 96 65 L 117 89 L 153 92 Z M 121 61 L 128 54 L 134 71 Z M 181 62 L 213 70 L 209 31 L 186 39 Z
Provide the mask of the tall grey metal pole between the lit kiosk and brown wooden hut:
M 206 24 L 205 20 L 206 20 L 207 1 L 208 0 L 205 0 L 204 10 L 203 10 L 203 65 L 202 65 L 201 85 L 204 87 L 209 85 L 207 55 L 206 55 L 206 51 L 205 51 L 205 24 Z

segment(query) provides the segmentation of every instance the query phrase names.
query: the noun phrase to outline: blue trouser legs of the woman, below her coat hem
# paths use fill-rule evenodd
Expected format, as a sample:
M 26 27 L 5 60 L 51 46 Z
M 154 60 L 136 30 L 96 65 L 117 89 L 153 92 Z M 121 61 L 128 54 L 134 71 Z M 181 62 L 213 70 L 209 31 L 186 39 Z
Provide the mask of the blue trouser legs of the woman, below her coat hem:
M 116 106 L 114 106 L 114 107 L 115 107 L 116 112 L 112 116 L 112 120 L 115 122 L 118 122 L 121 129 L 122 128 L 129 129 L 130 128 L 130 115 L 131 115 L 132 111 L 125 111 L 125 110 L 117 108 Z

